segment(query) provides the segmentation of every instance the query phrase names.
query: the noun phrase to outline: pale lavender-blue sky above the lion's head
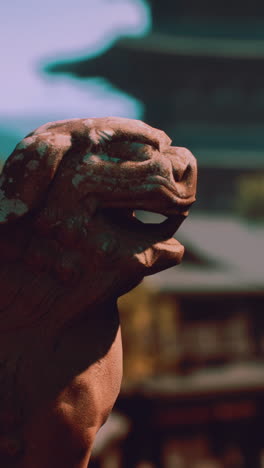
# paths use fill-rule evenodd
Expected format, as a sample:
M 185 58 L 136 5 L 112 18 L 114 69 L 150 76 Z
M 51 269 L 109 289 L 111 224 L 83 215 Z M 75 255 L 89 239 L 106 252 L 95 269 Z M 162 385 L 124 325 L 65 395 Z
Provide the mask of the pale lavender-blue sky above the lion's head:
M 105 80 L 48 76 L 42 69 L 56 60 L 98 55 L 122 36 L 146 34 L 151 19 L 144 0 L 0 3 L 1 134 L 22 138 L 46 121 L 64 118 L 140 118 L 141 103 Z

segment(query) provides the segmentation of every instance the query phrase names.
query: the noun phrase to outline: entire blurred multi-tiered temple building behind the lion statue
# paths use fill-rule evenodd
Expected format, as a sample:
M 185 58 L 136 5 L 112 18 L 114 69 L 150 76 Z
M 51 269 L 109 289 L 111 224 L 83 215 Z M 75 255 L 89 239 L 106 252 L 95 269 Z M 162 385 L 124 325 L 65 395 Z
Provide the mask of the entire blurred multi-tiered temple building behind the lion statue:
M 47 70 L 103 76 L 199 163 L 198 201 L 176 234 L 183 264 L 120 300 L 117 408 L 132 424 L 120 466 L 261 468 L 264 4 L 149 4 L 146 37 Z

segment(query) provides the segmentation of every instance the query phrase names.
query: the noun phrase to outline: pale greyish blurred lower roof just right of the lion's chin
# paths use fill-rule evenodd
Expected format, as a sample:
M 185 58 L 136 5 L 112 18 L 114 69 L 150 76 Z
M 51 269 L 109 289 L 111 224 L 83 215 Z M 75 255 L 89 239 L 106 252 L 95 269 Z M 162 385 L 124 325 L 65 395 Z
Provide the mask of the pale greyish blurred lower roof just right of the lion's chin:
M 186 259 L 146 278 L 150 288 L 183 294 L 264 294 L 264 224 L 192 214 L 175 237 L 186 247 Z

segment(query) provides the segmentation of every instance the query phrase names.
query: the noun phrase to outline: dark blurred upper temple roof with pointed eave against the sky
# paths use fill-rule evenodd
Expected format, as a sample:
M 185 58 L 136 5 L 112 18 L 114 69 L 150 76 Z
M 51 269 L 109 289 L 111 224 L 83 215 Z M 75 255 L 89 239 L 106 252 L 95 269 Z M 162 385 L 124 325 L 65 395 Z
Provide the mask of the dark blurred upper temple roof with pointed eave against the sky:
M 144 104 L 146 122 L 201 155 L 200 167 L 263 168 L 264 8 L 233 1 L 217 16 L 207 1 L 150 5 L 147 36 L 45 71 L 107 79 Z

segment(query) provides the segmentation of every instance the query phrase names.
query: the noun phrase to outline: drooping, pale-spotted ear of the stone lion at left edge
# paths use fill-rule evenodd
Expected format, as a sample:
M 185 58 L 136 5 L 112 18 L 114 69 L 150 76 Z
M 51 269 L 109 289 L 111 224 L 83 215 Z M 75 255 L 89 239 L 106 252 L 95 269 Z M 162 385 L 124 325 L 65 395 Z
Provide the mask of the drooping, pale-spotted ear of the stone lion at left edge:
M 38 206 L 70 147 L 71 137 L 55 132 L 32 134 L 16 146 L 0 177 L 0 224 Z

